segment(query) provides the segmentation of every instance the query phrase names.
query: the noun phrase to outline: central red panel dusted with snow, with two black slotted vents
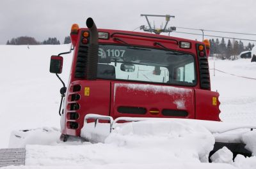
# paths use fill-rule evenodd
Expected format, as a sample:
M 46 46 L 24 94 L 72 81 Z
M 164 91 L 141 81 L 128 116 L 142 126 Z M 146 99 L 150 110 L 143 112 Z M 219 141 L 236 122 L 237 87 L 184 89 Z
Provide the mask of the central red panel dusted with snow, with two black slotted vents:
M 112 83 L 111 116 L 117 117 L 177 117 L 165 116 L 162 110 L 185 110 L 187 117 L 195 119 L 194 90 L 188 87 L 173 87 L 168 85 Z M 146 114 L 122 114 L 118 107 L 142 107 Z M 159 110 L 152 114 L 150 110 Z

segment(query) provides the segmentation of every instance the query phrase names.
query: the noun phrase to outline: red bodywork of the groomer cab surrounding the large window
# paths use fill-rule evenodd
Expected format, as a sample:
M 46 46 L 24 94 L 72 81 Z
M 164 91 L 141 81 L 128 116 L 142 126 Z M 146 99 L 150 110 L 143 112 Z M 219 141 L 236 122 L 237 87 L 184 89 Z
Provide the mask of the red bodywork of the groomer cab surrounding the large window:
M 170 50 L 192 54 L 195 57 L 196 85 L 193 87 L 185 87 L 179 85 L 149 84 L 147 82 L 125 82 L 124 80 L 86 80 L 74 77 L 78 53 L 77 48 L 79 46 L 77 44 L 79 44 L 80 41 L 79 37 L 81 37 L 81 31 L 88 31 L 88 29 L 79 29 L 79 33 L 71 37 L 72 43 L 76 44 L 77 47 L 75 46 L 74 48 L 74 57 L 66 93 L 67 97 L 62 116 L 64 120 L 61 121 L 61 133 L 64 135 L 80 136 L 81 128 L 83 128 L 84 124 L 84 116 L 86 114 L 111 115 L 114 119 L 124 116 L 179 117 L 220 121 L 218 92 L 211 92 L 211 87 L 204 90 L 200 87 L 199 61 L 196 45 L 204 45 L 204 43 L 157 34 L 98 29 L 98 31 L 109 33 L 109 36 L 111 34 L 113 35 L 108 40 L 99 39 L 99 43 L 112 45 L 122 44 L 120 41 L 113 40 L 113 38 L 116 37 L 121 38 L 122 41 L 125 41 L 125 43 L 129 45 L 163 49 L 163 47 L 154 45 L 157 41 Z M 140 36 L 127 36 L 125 34 L 116 33 L 129 33 Z M 177 40 L 178 42 L 189 41 L 191 48 L 180 48 L 179 44 L 175 41 L 166 40 L 168 38 Z M 75 41 L 77 41 L 77 43 Z M 80 86 L 80 88 L 74 89 L 74 86 Z M 77 95 L 79 95 L 79 97 Z M 76 97 L 78 98 L 76 99 Z M 213 103 L 214 101 L 216 101 L 216 105 Z M 129 113 L 124 113 L 118 109 L 120 107 L 127 109 L 129 109 L 129 107 L 135 109 L 141 108 L 145 110 L 145 112 L 132 114 L 133 109 L 129 110 Z M 165 110 L 167 110 L 167 112 L 169 111 L 170 114 L 164 114 L 163 112 Z M 186 115 L 184 115 L 184 113 Z M 77 124 L 75 128 L 70 128 L 72 122 Z

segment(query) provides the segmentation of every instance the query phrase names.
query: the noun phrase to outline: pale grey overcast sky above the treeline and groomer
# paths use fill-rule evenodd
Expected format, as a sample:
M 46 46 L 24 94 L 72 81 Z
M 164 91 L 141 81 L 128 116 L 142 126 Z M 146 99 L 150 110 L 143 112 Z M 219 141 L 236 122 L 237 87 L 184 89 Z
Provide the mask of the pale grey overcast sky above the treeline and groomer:
M 255 7 L 255 0 L 0 0 L 0 44 L 18 36 L 37 41 L 56 37 L 63 43 L 72 24 L 86 27 L 88 17 L 98 28 L 132 31 L 147 24 L 140 14 L 175 15 L 168 26 L 256 34 Z M 156 26 L 165 22 L 164 18 L 149 19 Z M 256 36 L 205 34 L 256 40 Z M 180 33 L 172 36 L 202 40 L 202 36 Z

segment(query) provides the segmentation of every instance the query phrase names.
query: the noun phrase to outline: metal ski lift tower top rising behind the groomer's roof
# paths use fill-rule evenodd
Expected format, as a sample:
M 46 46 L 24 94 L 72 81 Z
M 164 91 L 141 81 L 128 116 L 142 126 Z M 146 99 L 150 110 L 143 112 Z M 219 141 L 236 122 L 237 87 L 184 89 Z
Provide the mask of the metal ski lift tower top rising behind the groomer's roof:
M 168 22 L 170 21 L 170 18 L 175 18 L 175 16 L 172 16 L 172 15 L 147 15 L 147 14 L 141 14 L 140 15 L 141 17 L 145 17 L 147 22 L 148 22 L 148 27 L 147 26 L 140 26 L 140 29 L 143 29 L 143 31 L 147 31 L 147 32 L 150 32 L 150 33 L 156 33 L 156 34 L 161 34 L 161 33 L 170 33 L 172 31 L 176 31 L 176 27 L 167 27 L 167 24 Z M 150 22 L 148 21 L 148 17 L 165 17 L 165 26 L 164 28 L 162 29 L 162 26 L 160 29 L 157 29 L 155 26 L 152 27 L 150 25 Z

